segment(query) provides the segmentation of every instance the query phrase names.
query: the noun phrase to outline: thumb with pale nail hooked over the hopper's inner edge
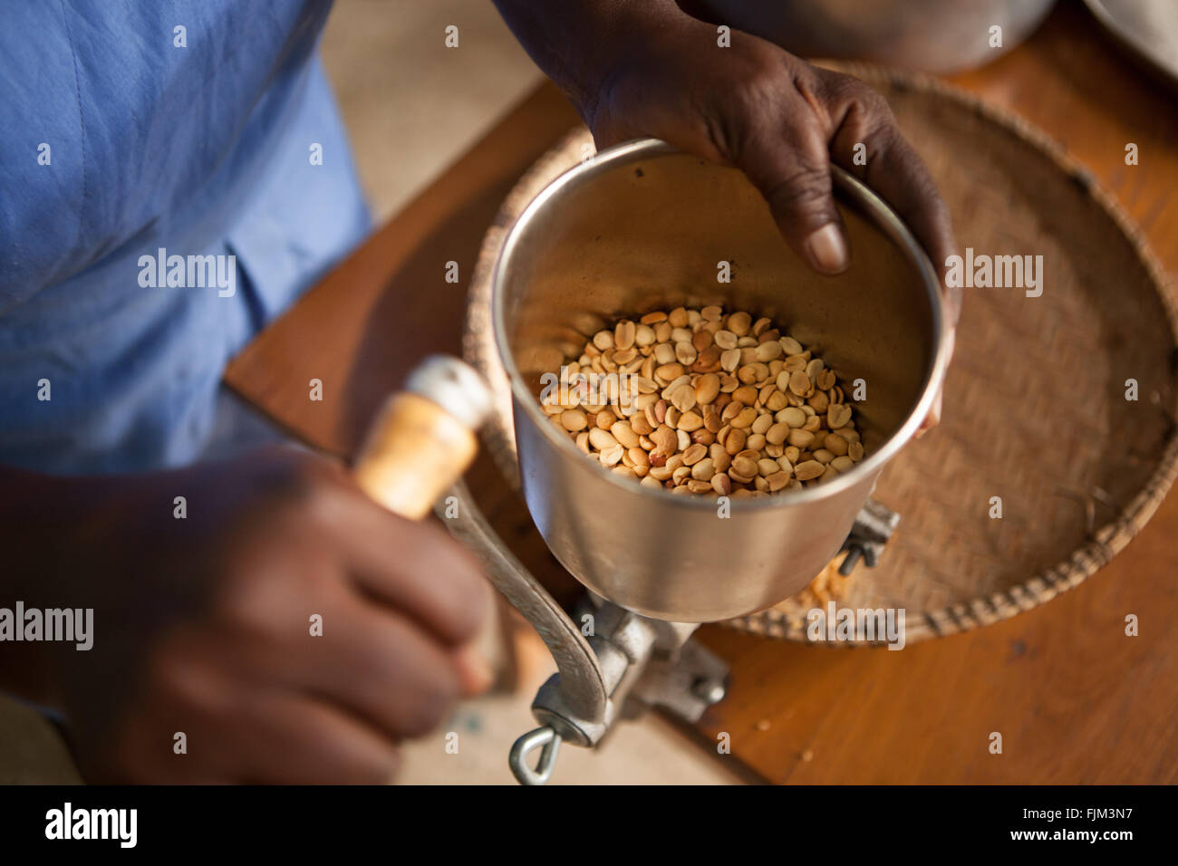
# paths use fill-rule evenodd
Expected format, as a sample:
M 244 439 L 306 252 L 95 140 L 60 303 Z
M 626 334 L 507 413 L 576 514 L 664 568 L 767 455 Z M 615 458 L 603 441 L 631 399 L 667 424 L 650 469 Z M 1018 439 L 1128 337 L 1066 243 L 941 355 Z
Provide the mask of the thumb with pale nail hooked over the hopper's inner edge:
M 785 134 L 753 135 L 734 157 L 802 260 L 819 273 L 846 270 L 847 234 L 834 204 L 830 156 L 819 130 L 787 120 Z

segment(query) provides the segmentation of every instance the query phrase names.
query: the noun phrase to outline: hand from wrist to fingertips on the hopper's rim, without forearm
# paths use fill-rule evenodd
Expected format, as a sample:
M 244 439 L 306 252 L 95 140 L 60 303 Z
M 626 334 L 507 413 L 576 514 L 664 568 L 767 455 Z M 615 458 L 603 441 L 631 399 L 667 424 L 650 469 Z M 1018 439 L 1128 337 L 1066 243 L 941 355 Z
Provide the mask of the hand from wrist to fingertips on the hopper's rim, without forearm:
M 708 48 L 715 28 L 691 22 L 610 70 L 582 105 L 598 148 L 650 135 L 741 168 L 786 240 L 826 273 L 848 264 L 833 161 L 882 194 L 944 263 L 953 252 L 948 210 L 884 98 L 756 37 L 732 40 Z M 866 165 L 853 159 L 860 144 Z

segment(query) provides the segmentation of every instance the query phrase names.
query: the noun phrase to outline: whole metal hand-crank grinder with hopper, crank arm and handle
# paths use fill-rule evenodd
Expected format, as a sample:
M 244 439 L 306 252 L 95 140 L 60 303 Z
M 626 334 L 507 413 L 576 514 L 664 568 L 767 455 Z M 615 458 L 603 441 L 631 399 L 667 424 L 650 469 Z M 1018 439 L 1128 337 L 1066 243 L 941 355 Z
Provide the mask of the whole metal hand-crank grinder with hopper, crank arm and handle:
M 839 168 L 833 179 L 852 265 L 823 277 L 785 244 L 734 168 L 653 139 L 576 165 L 489 236 L 492 264 L 472 289 L 465 345 L 481 376 L 434 358 L 409 383 L 416 402 L 406 410 L 406 395 L 395 398 L 399 408 L 375 428 L 357 463 L 362 484 L 421 516 L 444 493 L 438 484 L 469 465 L 469 429 L 489 418 L 484 441 L 522 485 L 552 554 L 588 589 L 567 613 L 465 485 L 449 490 L 446 513 L 457 516 L 445 522 L 536 628 L 558 670 L 532 703 L 540 727 L 511 748 L 521 782 L 547 781 L 562 741 L 593 747 L 643 707 L 699 719 L 723 698 L 727 677 L 724 663 L 689 640 L 700 623 L 783 601 L 840 550 L 845 568 L 859 558 L 872 566 L 891 535 L 896 516 L 868 496 L 933 403 L 948 326 L 937 271 L 909 230 L 858 179 Z M 861 379 L 862 463 L 814 488 L 720 509 L 715 497 L 673 496 L 602 471 L 547 419 L 540 377 L 578 356 L 588 335 L 621 316 L 712 304 L 783 323 L 828 366 Z M 443 449 L 452 471 L 439 477 L 434 462 L 438 484 L 429 487 L 411 471 L 413 450 L 395 443 L 419 438 L 438 418 L 454 437 Z M 412 484 L 397 481 L 408 474 Z

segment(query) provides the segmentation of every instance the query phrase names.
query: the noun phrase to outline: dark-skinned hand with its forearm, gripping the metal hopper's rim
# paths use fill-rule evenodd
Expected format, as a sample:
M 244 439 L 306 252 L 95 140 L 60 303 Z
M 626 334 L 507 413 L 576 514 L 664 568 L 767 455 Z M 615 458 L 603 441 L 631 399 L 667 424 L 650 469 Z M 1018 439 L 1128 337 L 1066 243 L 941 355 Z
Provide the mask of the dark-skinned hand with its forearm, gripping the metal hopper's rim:
M 900 214 L 938 273 L 955 244 L 948 209 L 882 97 L 670 0 L 496 0 L 532 59 L 577 106 L 598 148 L 653 137 L 741 168 L 786 242 L 815 271 L 842 271 L 848 250 L 830 186 L 835 163 Z M 866 165 L 854 161 L 863 145 Z M 960 290 L 946 292 L 949 323 Z M 931 416 L 935 423 L 938 406 Z

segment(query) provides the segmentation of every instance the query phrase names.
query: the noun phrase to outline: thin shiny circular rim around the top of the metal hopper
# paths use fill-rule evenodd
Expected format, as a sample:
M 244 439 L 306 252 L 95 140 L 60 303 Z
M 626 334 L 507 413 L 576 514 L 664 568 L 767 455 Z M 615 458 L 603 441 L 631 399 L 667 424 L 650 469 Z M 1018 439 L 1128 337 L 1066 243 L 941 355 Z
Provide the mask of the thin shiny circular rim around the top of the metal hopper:
M 522 408 L 530 419 L 542 430 L 542 435 L 554 444 L 558 452 L 567 455 L 570 460 L 584 460 L 584 455 L 577 450 L 576 444 L 567 436 L 560 435 L 548 417 L 540 408 L 536 396 L 524 385 L 523 377 L 516 368 L 515 357 L 510 351 L 507 337 L 507 326 L 503 312 L 503 296 L 498 286 L 502 284 L 503 270 L 511 257 L 518 242 L 523 226 L 528 225 L 545 204 L 567 189 L 588 183 L 604 166 L 626 165 L 636 159 L 648 159 L 650 157 L 681 154 L 676 147 L 655 138 L 635 139 L 615 145 L 597 153 L 591 160 L 576 165 L 552 183 L 544 187 L 534 198 L 521 214 L 512 222 L 503 239 L 495 265 L 491 269 L 491 323 L 495 331 L 495 348 L 499 356 L 499 363 L 507 372 L 508 382 L 511 386 L 511 395 L 516 406 Z M 945 326 L 945 302 L 941 297 L 940 279 L 933 267 L 928 254 L 916 242 L 915 236 L 905 225 L 904 220 L 866 184 L 846 170 L 832 165 L 832 180 L 836 196 L 842 196 L 856 205 L 873 220 L 888 239 L 895 244 L 905 257 L 915 265 L 920 273 L 921 284 L 928 293 L 932 304 L 933 331 L 937 335 L 937 351 L 933 353 L 932 364 L 925 370 L 924 388 L 920 399 L 908 412 L 904 423 L 885 441 L 882 447 L 874 454 L 866 457 L 855 467 L 840 474 L 833 481 L 805 488 L 800 491 L 789 493 L 782 496 L 767 496 L 759 498 L 741 500 L 741 509 L 776 509 L 790 505 L 803 505 L 810 502 L 835 496 L 839 493 L 859 484 L 863 478 L 880 471 L 892 457 L 911 439 L 920 427 L 921 421 L 932 408 L 937 392 L 945 381 L 945 372 L 949 361 L 949 331 Z M 785 242 L 782 242 L 785 243 Z M 519 409 L 514 409 L 519 411 Z M 662 505 L 676 504 L 683 508 L 695 508 L 699 510 L 715 510 L 715 501 L 703 496 L 676 496 L 668 490 L 651 490 L 642 484 L 636 484 L 628 478 L 621 478 L 613 472 L 602 474 L 609 483 L 629 494 L 648 497 L 651 502 Z

